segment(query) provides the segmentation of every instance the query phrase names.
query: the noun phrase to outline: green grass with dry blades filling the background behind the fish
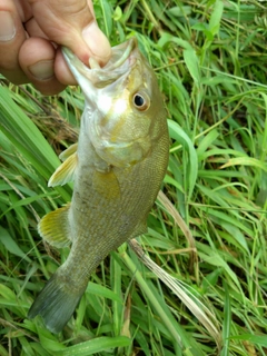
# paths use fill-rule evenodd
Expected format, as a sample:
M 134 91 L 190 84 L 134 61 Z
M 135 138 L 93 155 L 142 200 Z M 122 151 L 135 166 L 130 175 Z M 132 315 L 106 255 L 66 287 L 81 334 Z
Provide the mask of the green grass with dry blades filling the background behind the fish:
M 156 70 L 168 172 L 148 234 L 131 244 L 139 258 L 127 245 L 112 251 L 63 333 L 50 334 L 26 315 L 68 249 L 42 243 L 36 227 L 71 197 L 71 186 L 47 181 L 77 140 L 82 95 L 44 98 L 2 78 L 0 355 L 266 355 L 266 7 L 99 0 L 95 9 L 110 42 L 137 36 Z

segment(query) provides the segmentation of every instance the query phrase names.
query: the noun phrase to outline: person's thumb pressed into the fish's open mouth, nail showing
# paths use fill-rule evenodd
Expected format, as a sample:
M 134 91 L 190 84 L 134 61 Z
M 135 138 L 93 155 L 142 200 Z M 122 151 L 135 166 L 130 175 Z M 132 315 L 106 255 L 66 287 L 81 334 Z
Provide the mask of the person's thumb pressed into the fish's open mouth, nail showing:
M 36 22 L 50 41 L 69 47 L 81 61 L 90 57 L 105 65 L 110 44 L 99 29 L 91 1 L 28 0 Z

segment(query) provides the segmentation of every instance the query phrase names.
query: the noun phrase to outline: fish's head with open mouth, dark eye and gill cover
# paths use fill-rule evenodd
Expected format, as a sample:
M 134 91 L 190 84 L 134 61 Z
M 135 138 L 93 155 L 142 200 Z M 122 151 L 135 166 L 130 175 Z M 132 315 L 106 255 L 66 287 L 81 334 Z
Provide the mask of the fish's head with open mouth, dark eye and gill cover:
M 85 93 L 83 129 L 100 158 L 115 167 L 146 159 L 166 125 L 166 110 L 137 40 L 113 47 L 103 68 L 93 60 L 89 68 L 73 55 L 63 55 Z

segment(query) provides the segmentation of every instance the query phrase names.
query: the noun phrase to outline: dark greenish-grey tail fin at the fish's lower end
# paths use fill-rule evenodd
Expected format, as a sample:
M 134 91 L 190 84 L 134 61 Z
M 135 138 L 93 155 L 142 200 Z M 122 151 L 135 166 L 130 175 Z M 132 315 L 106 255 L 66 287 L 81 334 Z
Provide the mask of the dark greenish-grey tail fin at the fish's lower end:
M 40 315 L 46 327 L 51 333 L 58 334 L 69 322 L 83 291 L 85 289 L 79 289 L 77 293 L 75 288 L 68 288 L 56 273 L 32 304 L 28 318 L 32 319 Z

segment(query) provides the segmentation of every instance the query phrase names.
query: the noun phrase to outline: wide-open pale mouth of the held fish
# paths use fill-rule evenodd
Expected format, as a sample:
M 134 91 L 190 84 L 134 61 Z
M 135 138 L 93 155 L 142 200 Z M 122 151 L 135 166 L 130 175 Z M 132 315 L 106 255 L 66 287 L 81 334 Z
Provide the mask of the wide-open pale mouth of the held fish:
M 89 59 L 88 65 L 90 67 L 88 67 L 67 47 L 62 47 L 61 50 L 72 75 L 80 87 L 85 89 L 88 81 L 92 86 L 101 88 L 126 73 L 132 63 L 135 63 L 135 49 L 137 48 L 138 43 L 135 38 L 112 47 L 111 58 L 102 68 L 95 58 Z

